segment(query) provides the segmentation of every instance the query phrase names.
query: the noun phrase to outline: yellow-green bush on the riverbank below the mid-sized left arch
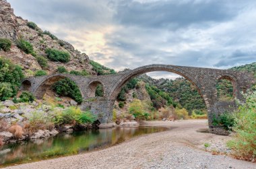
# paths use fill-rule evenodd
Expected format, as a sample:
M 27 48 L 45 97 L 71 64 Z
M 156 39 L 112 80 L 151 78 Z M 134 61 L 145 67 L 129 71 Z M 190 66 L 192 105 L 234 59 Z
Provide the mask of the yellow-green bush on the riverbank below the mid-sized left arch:
M 71 123 L 93 123 L 96 121 L 96 116 L 90 111 L 82 111 L 80 108 L 70 106 L 64 111 L 57 112 L 54 122 L 56 125 L 64 125 Z

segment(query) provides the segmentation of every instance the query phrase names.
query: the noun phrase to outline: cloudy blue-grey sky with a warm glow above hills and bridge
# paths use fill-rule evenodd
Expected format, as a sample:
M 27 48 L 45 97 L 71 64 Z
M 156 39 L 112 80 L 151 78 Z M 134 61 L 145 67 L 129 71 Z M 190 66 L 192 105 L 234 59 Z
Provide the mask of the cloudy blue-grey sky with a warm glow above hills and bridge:
M 154 63 L 226 69 L 256 61 L 255 0 L 9 3 L 16 15 L 117 71 Z

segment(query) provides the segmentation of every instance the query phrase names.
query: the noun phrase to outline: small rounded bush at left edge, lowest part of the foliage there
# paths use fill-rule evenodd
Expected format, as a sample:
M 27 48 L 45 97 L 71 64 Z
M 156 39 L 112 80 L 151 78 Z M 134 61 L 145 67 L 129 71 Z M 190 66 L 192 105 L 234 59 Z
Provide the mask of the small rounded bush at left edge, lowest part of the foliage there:
M 3 82 L 0 83 L 0 100 L 7 100 L 8 98 L 11 98 L 15 95 L 15 92 L 13 91 L 13 86 L 11 86 L 11 83 Z

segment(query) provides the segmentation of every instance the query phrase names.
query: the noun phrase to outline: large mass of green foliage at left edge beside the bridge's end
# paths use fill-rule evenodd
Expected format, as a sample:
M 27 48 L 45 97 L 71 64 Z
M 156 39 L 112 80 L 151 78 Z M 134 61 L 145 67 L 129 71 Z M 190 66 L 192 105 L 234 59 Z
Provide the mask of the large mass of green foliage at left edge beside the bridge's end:
M 15 96 L 23 78 L 22 67 L 0 57 L 0 100 Z

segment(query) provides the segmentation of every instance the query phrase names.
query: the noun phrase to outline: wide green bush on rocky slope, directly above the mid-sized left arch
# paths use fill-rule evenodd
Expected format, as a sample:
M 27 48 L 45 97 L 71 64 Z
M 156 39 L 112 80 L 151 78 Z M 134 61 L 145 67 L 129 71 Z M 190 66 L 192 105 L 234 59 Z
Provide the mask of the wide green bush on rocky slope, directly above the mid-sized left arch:
M 47 57 L 52 61 L 60 61 L 63 63 L 67 63 L 70 59 L 69 53 L 57 50 L 55 48 L 46 48 L 45 53 L 47 54 Z

